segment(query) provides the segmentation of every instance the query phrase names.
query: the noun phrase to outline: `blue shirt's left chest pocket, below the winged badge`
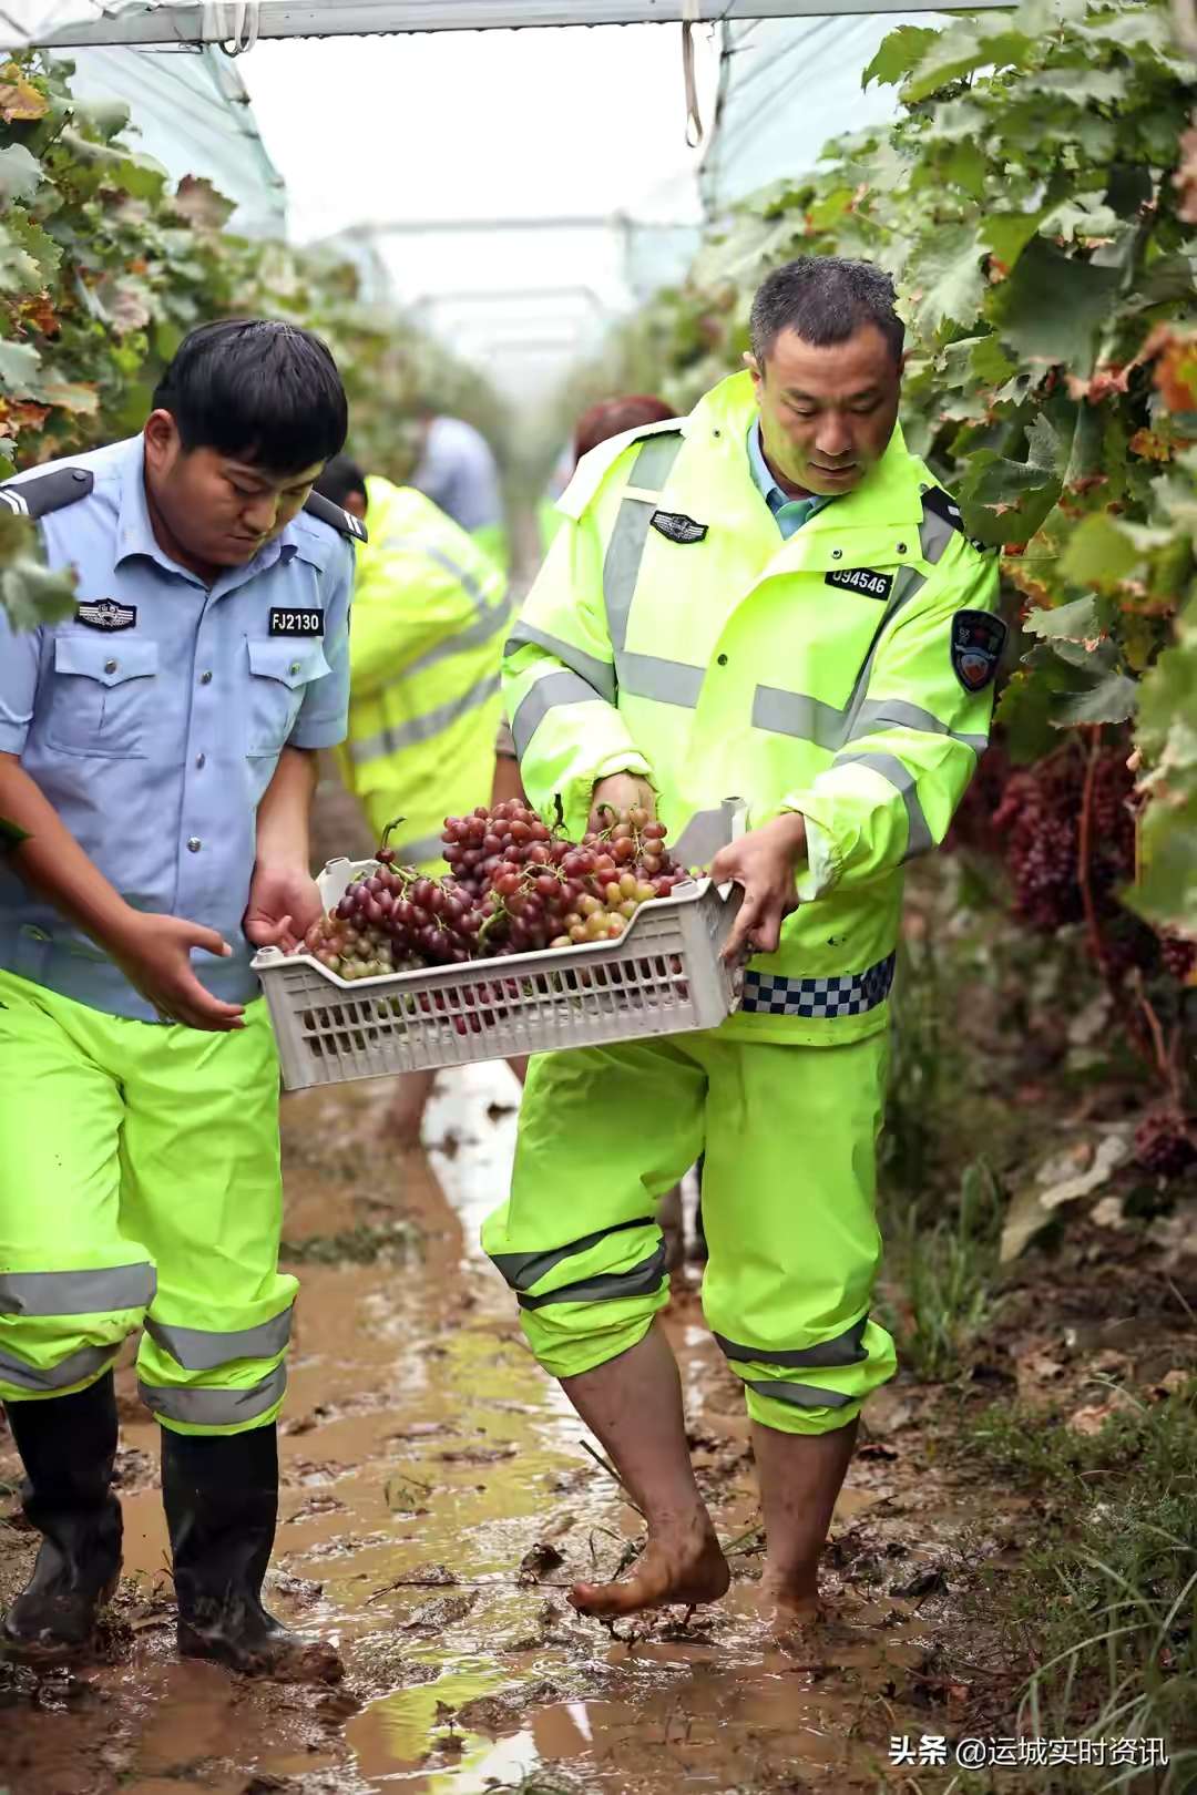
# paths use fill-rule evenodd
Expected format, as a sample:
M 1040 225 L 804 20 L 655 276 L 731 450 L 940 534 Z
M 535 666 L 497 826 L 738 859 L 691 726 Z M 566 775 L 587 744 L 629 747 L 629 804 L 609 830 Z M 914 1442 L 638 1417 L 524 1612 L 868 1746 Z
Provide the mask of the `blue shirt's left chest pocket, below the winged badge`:
M 45 740 L 92 759 L 145 759 L 158 700 L 158 643 L 54 637 Z

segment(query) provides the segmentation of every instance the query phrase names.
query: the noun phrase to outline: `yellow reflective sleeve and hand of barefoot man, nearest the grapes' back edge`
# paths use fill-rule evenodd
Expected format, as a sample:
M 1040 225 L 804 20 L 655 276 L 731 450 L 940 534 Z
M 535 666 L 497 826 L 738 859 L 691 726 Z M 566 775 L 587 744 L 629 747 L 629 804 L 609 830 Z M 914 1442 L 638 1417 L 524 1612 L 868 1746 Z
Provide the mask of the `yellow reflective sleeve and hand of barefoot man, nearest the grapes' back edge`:
M 651 799 L 651 768 L 616 707 L 603 551 L 589 515 L 567 519 L 528 594 L 502 666 L 520 779 L 549 820 L 578 838 L 594 802 Z M 614 775 L 632 781 L 614 784 Z

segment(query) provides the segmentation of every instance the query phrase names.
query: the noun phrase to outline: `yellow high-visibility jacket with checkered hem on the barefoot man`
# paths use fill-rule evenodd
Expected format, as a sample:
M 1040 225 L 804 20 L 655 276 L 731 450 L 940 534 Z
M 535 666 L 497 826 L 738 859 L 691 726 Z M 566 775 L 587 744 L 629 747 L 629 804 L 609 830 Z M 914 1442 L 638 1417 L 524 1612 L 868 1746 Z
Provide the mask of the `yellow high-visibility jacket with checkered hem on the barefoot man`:
M 856 492 L 782 542 L 748 465 L 750 375 L 589 454 L 506 644 L 520 775 L 585 829 L 641 774 L 709 863 L 725 799 L 808 819 L 800 908 L 750 962 L 730 1034 L 834 1045 L 885 1027 L 903 863 L 942 842 L 989 738 L 996 556 L 901 429 Z

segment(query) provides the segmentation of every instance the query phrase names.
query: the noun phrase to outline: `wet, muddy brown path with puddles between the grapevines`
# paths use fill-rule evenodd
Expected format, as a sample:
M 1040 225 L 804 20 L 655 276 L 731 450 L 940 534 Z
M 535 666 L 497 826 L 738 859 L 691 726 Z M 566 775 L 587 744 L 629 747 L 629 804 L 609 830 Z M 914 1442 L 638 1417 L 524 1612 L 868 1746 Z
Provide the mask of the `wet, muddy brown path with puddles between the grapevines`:
M 515 1090 L 504 1066 L 445 1081 L 427 1156 L 377 1145 L 386 1086 L 284 1104 L 303 1294 L 269 1601 L 339 1642 L 346 1684 L 262 1686 L 174 1659 L 156 1432 L 126 1366 L 127 1554 L 104 1657 L 41 1682 L 0 1673 L 0 1790 L 847 1791 L 899 1786 L 892 1734 L 955 1730 L 944 1703 L 967 1698 L 976 1641 L 942 1565 L 1001 1551 L 1018 1504 L 982 1490 L 962 1508 L 910 1431 L 912 1397 L 883 1393 L 833 1529 L 834 1619 L 799 1653 L 770 1646 L 752 1614 L 739 1386 L 702 1327 L 695 1273 L 675 1280 L 668 1321 L 700 1479 L 734 1544 L 732 1594 L 689 1624 L 668 1610 L 608 1630 L 567 1607 L 571 1578 L 614 1572 L 639 1517 L 583 1450 L 476 1246 L 504 1188 Z M 11 1490 L 2 1510 L 5 1596 L 32 1542 Z

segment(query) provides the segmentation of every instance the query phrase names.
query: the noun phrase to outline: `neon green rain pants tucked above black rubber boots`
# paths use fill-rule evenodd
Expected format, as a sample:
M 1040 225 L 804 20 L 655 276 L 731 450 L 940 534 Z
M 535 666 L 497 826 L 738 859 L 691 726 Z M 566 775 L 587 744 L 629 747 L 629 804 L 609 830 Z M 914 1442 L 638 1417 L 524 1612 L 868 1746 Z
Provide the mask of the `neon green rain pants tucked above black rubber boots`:
M 135 1328 L 138 1388 L 181 1434 L 278 1414 L 278 1061 L 264 1002 L 232 1034 L 127 1021 L 0 971 L 0 1398 L 95 1382 Z

